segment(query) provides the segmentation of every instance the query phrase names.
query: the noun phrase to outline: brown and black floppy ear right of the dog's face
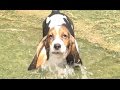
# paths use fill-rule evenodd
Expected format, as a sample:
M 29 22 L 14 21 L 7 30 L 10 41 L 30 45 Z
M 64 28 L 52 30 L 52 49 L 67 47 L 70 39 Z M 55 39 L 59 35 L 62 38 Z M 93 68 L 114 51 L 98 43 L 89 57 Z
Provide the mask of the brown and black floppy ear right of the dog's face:
M 70 54 L 73 56 L 74 63 L 82 65 L 83 63 L 82 63 L 82 60 L 79 55 L 77 41 L 75 40 L 75 38 L 72 35 L 70 35 L 70 39 L 71 39 Z

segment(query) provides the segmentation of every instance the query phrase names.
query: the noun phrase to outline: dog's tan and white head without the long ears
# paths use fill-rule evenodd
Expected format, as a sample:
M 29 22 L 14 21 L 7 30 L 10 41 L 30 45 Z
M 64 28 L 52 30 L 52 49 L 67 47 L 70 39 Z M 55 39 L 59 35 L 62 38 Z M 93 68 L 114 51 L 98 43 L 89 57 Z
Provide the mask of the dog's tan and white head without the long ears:
M 50 54 L 65 54 L 70 46 L 71 35 L 65 25 L 56 26 L 49 30 L 46 37 Z

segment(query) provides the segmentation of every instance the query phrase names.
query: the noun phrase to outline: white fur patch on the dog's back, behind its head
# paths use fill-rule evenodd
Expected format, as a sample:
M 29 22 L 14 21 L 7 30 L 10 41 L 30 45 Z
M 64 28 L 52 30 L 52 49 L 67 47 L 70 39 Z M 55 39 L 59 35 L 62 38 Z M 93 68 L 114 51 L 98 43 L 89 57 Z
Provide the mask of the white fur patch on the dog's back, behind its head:
M 55 14 L 51 17 L 47 17 L 46 23 L 50 21 L 49 27 L 52 28 L 52 27 L 64 24 L 65 23 L 64 18 L 67 19 L 65 15 Z

